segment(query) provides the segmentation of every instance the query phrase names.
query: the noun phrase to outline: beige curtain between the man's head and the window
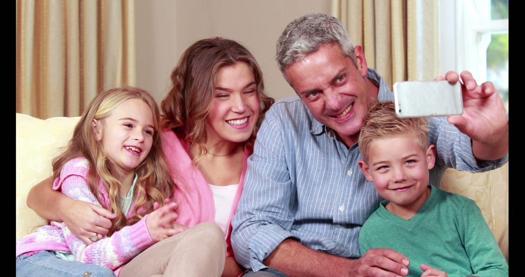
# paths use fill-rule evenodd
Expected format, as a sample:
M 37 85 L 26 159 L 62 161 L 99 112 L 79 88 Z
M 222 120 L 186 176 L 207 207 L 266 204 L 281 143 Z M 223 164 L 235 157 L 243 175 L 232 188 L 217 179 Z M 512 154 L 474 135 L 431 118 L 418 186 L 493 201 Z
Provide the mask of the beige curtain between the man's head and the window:
M 391 88 L 438 76 L 437 0 L 333 0 L 332 13 Z

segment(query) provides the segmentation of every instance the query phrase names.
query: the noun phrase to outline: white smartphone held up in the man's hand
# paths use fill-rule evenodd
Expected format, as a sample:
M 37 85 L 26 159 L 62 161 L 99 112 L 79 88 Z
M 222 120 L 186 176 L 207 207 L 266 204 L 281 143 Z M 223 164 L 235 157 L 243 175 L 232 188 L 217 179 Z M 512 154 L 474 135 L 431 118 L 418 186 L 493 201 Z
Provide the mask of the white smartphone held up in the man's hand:
M 405 81 L 394 84 L 395 112 L 399 118 L 447 116 L 463 113 L 461 84 L 448 81 Z

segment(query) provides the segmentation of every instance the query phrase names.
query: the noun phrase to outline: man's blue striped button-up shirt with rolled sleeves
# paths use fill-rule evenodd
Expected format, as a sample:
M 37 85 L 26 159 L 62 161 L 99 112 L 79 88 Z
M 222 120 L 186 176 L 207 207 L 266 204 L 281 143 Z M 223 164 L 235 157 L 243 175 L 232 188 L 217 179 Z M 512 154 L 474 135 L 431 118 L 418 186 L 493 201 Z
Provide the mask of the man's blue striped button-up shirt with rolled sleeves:
M 367 78 L 379 83 L 380 101 L 393 100 L 375 70 Z M 480 172 L 507 161 L 477 164 L 470 138 L 446 118 L 429 118 L 429 127 L 438 152 L 431 184 L 440 184 L 446 167 Z M 329 133 L 298 97 L 280 100 L 266 113 L 232 221 L 233 250 L 245 268 L 266 268 L 262 261 L 287 238 L 341 257 L 361 256 L 359 231 L 383 198 L 359 169 L 359 146 L 346 148 Z

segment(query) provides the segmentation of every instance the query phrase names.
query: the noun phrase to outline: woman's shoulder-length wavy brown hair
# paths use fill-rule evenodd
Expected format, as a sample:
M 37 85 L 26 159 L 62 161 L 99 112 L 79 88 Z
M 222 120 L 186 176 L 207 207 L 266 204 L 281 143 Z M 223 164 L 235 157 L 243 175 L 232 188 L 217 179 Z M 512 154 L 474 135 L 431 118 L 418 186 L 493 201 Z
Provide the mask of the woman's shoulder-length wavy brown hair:
M 246 145 L 253 147 L 262 119 L 275 102 L 264 92 L 262 72 L 254 56 L 244 46 L 230 39 L 215 37 L 202 39 L 188 47 L 171 73 L 172 87 L 161 102 L 162 127 L 172 129 L 188 143 L 195 143 L 199 153 L 208 153 L 205 122 L 211 109 L 218 71 L 225 66 L 245 62 L 253 71 L 257 96 L 261 105 L 259 118 Z

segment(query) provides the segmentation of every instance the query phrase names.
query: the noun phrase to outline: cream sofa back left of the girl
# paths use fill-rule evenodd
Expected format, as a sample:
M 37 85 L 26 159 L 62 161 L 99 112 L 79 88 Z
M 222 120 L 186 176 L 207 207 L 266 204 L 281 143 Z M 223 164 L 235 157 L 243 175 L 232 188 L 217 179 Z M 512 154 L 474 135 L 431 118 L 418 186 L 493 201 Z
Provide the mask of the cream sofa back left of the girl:
M 41 120 L 16 114 L 16 239 L 47 221 L 26 205 L 31 187 L 51 176 L 51 161 L 66 146 L 80 117 Z

